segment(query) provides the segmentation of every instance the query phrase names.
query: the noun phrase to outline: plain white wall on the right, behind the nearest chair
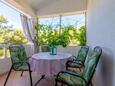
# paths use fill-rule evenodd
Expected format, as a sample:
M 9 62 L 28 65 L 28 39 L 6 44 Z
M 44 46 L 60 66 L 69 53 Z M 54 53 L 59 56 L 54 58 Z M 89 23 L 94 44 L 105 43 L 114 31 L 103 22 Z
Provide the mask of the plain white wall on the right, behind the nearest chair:
M 95 86 L 115 86 L 115 0 L 88 0 L 87 15 L 87 44 L 103 48 Z

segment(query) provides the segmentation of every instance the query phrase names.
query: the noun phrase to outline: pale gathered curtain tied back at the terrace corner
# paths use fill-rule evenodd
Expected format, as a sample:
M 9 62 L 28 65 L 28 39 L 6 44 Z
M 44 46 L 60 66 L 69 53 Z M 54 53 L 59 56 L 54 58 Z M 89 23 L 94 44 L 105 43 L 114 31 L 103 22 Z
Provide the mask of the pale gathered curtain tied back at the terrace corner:
M 36 43 L 36 36 L 35 36 L 35 18 L 28 18 L 27 16 L 20 14 L 21 17 L 21 22 L 23 26 L 23 31 L 25 37 L 34 44 L 34 49 L 32 52 L 36 53 L 37 52 L 37 47 Z M 31 52 L 30 52 L 31 53 Z

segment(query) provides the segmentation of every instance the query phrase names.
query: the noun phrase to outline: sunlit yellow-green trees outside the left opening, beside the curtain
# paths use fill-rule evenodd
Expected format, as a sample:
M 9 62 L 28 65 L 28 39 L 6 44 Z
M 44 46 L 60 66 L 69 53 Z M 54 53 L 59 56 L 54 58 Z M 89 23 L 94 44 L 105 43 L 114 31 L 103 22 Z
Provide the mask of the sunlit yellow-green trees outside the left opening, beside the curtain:
M 0 16 L 0 43 L 27 43 L 27 39 L 25 39 L 22 30 L 11 29 L 12 26 L 7 25 L 8 21 L 4 16 Z

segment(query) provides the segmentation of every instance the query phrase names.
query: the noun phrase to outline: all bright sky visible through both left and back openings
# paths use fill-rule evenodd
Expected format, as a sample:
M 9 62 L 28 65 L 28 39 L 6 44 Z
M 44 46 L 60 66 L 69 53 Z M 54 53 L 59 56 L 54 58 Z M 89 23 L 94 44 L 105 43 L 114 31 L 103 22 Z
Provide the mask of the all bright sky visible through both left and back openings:
M 13 29 L 22 28 L 21 20 L 20 20 L 20 13 L 13 8 L 3 4 L 0 2 L 0 15 L 3 15 L 8 20 L 8 25 L 13 25 Z M 59 24 L 59 17 L 55 18 L 46 18 L 41 19 L 41 24 Z M 85 24 L 85 16 L 82 15 L 73 15 L 73 16 L 64 16 L 62 17 L 62 24 L 64 25 L 74 25 L 77 27 L 81 27 Z

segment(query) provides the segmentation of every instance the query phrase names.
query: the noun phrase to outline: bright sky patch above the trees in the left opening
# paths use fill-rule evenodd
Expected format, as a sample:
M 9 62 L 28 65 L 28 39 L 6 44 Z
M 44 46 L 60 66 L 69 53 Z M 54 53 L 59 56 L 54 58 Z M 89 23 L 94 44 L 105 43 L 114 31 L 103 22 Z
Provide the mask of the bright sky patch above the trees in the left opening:
M 0 2 L 0 15 L 3 15 L 8 20 L 8 25 L 13 25 L 13 28 L 22 28 L 20 13 L 13 8 Z

